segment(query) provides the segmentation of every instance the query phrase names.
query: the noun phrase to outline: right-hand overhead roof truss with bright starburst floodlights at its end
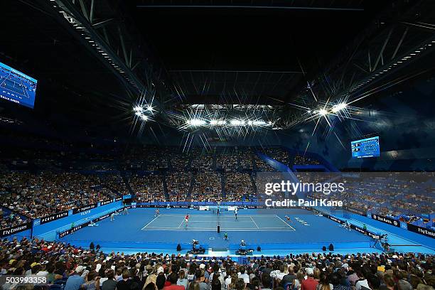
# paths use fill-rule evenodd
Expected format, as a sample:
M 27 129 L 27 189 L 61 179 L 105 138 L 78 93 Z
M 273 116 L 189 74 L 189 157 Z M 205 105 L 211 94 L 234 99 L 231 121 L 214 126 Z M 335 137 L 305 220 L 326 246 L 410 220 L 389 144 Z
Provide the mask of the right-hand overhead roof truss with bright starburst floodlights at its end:
M 284 121 L 286 128 L 308 121 L 317 121 L 317 127 L 318 119 L 328 122 L 333 116 L 355 119 L 360 100 L 407 80 L 407 66 L 435 52 L 435 28 L 428 24 L 433 20 L 435 2 L 411 5 L 412 9 L 405 6 L 401 14 L 385 11 L 343 54 L 307 82 L 289 102 L 294 113 Z

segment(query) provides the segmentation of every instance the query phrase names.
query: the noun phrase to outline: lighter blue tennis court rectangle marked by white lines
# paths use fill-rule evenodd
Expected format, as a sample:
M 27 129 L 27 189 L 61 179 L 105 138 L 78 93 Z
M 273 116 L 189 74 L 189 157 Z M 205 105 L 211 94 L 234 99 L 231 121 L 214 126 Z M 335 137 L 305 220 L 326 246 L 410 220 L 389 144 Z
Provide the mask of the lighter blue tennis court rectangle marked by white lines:
M 217 226 L 227 232 L 275 232 L 294 231 L 287 222 L 278 215 L 239 215 L 237 220 L 232 215 L 190 215 L 188 226 L 184 222 L 185 215 L 159 215 L 147 223 L 142 230 L 182 230 L 215 232 Z

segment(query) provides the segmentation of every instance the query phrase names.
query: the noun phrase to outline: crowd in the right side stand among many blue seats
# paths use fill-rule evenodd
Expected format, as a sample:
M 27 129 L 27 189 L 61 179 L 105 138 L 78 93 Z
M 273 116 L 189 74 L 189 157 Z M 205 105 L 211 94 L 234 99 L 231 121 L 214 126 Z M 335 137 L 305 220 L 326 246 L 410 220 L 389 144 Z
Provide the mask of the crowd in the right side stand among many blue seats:
M 434 221 L 429 215 L 435 213 L 435 196 L 433 195 L 433 178 L 431 173 L 421 180 L 412 173 L 370 173 L 368 175 L 334 173 L 296 173 L 304 183 L 334 181 L 343 182 L 343 192 L 337 191 L 330 196 L 312 193 L 315 198 L 342 200 L 348 208 L 361 213 L 371 210 L 377 215 L 384 215 L 402 222 L 416 222 L 424 219 L 431 227 Z M 419 181 L 419 182 L 416 182 Z

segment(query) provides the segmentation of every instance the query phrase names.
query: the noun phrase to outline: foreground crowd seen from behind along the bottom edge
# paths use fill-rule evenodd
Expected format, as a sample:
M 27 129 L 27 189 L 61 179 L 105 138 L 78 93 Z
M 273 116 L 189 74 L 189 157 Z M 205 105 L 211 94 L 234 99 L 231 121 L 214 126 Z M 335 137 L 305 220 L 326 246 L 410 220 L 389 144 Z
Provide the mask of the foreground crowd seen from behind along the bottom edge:
M 43 276 L 53 289 L 432 290 L 435 286 L 435 258 L 429 254 L 289 254 L 248 257 L 240 264 L 230 257 L 104 253 L 93 243 L 82 249 L 38 239 L 2 240 L 0 249 L 0 275 Z M 3 285 L 5 290 L 16 287 Z

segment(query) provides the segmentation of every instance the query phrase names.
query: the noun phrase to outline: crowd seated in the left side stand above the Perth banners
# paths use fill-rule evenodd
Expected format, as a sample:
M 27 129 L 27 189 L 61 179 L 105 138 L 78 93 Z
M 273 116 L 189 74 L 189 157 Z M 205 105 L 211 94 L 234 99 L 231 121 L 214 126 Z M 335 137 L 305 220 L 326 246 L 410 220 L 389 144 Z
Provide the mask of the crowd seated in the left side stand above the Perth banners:
M 1 205 L 28 218 L 42 218 L 114 198 L 99 176 L 73 172 L 0 173 Z

